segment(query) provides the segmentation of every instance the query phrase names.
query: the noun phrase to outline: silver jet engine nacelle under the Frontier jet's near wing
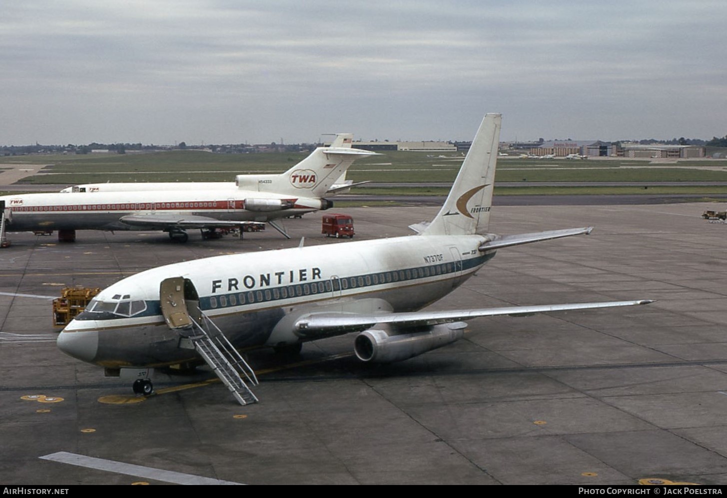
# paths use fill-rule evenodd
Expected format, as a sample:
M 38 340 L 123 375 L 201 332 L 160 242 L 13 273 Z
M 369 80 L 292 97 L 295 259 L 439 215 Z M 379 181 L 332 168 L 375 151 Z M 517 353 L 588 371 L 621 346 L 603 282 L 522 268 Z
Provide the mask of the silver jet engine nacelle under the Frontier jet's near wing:
M 371 363 L 408 360 L 462 339 L 466 326 L 465 322 L 458 321 L 452 324 L 427 326 L 418 332 L 397 335 L 387 334 L 383 330 L 369 329 L 356 336 L 353 351 L 359 360 Z

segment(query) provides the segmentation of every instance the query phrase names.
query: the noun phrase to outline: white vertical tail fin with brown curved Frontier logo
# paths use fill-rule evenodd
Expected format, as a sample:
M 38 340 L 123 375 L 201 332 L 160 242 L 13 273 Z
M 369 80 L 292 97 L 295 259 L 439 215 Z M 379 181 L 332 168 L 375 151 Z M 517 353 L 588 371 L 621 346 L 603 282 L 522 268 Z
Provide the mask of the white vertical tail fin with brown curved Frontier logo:
M 485 115 L 447 200 L 422 235 L 486 233 L 501 121 L 501 114 Z

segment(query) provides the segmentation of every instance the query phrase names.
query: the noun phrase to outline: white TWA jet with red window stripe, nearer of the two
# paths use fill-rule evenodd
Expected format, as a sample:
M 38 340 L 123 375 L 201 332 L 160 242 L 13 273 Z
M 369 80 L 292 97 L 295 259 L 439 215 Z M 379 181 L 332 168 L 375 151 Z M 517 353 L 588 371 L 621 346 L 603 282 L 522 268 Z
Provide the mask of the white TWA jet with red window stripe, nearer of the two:
M 333 203 L 324 195 L 334 182 L 357 158 L 374 155 L 350 145 L 319 147 L 285 173 L 241 174 L 238 185 L 227 188 L 203 183 L 187 190 L 167 183 L 156 190 L 3 196 L 0 221 L 13 232 L 58 230 L 62 241 L 75 240 L 76 230 L 163 230 L 174 240 L 186 241 L 190 228 L 262 222 L 283 233 L 274 220 L 329 209 Z

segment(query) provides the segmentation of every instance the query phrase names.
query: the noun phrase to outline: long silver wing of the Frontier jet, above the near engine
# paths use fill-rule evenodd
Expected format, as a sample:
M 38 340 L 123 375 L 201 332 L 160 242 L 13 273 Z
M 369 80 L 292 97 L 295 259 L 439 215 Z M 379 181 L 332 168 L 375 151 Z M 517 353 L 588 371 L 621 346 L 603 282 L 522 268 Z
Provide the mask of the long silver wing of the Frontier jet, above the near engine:
M 305 337 L 316 334 L 361 332 L 374 325 L 390 324 L 399 327 L 447 324 L 480 316 L 528 316 L 551 311 L 587 310 L 614 306 L 648 305 L 652 300 L 578 302 L 565 305 L 507 306 L 481 310 L 414 311 L 411 313 L 386 313 L 361 315 L 356 313 L 308 313 L 297 319 L 295 329 Z

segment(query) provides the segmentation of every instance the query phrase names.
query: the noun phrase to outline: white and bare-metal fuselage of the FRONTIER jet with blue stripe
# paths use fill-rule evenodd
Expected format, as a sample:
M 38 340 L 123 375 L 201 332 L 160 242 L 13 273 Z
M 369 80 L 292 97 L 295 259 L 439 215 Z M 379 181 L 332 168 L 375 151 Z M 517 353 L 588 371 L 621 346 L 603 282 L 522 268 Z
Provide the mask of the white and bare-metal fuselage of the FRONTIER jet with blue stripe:
M 292 321 L 313 311 L 387 313 L 419 310 L 449 294 L 494 252 L 486 238 L 407 236 L 376 241 L 244 253 L 175 263 L 124 278 L 97 295 L 61 332 L 58 344 L 84 361 L 119 368 L 159 366 L 194 356 L 166 326 L 159 287 L 187 279 L 199 308 L 236 348 L 291 345 L 308 337 Z M 130 305 L 121 304 L 136 303 Z M 126 316 L 114 314 L 124 310 Z M 134 314 L 134 311 L 138 313 Z M 130 316 L 129 316 L 130 315 Z

